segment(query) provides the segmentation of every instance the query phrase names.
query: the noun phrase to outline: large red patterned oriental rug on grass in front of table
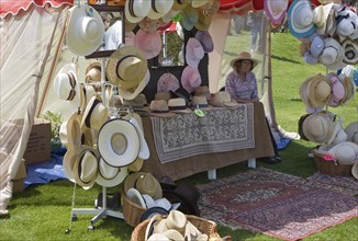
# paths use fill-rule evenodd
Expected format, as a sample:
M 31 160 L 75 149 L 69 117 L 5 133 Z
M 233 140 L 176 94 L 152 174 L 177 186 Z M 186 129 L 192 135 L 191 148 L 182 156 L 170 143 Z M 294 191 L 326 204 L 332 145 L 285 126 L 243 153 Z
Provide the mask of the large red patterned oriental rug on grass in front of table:
M 358 199 L 346 190 L 264 168 L 197 187 L 202 217 L 283 240 L 302 239 L 358 216 Z

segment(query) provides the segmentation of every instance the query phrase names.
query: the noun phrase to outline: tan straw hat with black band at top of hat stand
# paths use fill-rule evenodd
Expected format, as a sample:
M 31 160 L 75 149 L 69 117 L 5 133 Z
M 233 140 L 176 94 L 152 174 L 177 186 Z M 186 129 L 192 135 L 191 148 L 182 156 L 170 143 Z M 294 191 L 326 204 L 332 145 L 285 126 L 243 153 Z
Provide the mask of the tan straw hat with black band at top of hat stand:
M 143 81 L 148 64 L 144 53 L 133 46 L 122 46 L 109 58 L 107 77 L 114 85 L 134 88 Z

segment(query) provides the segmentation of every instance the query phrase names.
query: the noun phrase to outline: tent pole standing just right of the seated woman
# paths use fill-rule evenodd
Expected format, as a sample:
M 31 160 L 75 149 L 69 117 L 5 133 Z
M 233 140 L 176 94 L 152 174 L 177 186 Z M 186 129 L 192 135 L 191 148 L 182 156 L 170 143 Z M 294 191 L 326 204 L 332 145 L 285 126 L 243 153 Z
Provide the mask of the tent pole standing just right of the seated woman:
M 268 81 L 267 81 L 267 99 L 268 99 L 268 105 L 269 105 L 269 113 L 271 118 L 271 127 L 275 129 L 278 129 L 277 120 L 276 120 L 276 113 L 275 113 L 275 106 L 273 106 L 273 92 L 272 92 L 272 64 L 271 64 L 271 25 L 269 25 L 269 33 L 268 33 Z

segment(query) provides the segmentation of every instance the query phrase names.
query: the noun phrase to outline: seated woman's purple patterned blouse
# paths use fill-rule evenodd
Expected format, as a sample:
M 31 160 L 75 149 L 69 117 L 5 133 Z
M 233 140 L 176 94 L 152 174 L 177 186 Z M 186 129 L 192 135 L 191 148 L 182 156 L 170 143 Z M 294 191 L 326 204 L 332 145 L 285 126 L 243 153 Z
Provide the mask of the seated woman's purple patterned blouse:
M 231 71 L 226 77 L 225 91 L 232 99 L 258 100 L 255 73 L 248 72 L 244 80 L 235 70 Z

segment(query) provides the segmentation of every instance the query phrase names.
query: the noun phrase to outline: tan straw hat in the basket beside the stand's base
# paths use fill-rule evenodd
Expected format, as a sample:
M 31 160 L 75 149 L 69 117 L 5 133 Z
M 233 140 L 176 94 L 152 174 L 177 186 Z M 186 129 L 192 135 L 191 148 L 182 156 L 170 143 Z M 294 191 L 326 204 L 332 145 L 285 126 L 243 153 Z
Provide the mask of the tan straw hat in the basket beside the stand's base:
M 141 194 L 147 194 L 154 199 L 163 197 L 161 186 L 156 177 L 148 172 L 135 172 L 124 181 L 124 192 L 136 188 Z

